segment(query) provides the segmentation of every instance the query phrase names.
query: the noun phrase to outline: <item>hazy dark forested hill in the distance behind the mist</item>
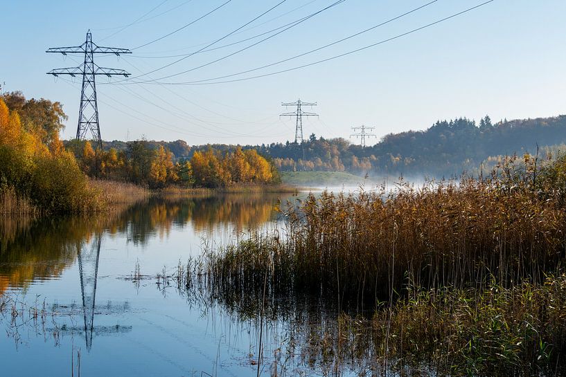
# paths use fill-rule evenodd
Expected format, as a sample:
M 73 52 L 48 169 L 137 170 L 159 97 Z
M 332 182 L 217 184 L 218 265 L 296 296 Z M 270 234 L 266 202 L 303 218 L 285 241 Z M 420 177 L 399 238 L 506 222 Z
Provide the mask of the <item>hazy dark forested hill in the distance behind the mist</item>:
M 189 141 L 190 142 L 190 141 Z M 189 146 L 182 140 L 152 142 L 164 145 L 176 158 L 191 158 L 194 151 L 207 145 Z M 488 116 L 479 124 L 473 120 L 439 121 L 425 131 L 406 131 L 384 136 L 366 148 L 343 138 L 317 138 L 305 142 L 305 159 L 300 145 L 287 142 L 271 145 L 247 145 L 271 157 L 281 171 L 346 171 L 370 176 L 458 176 L 463 171 L 475 173 L 483 163 L 490 167 L 500 156 L 536 151 L 566 149 L 566 116 L 501 121 L 493 124 Z M 107 142 L 105 148 L 124 149 L 124 142 Z M 217 150 L 233 145 L 212 145 Z M 564 148 L 563 148 L 564 147 Z M 487 165 L 487 166 L 486 166 Z

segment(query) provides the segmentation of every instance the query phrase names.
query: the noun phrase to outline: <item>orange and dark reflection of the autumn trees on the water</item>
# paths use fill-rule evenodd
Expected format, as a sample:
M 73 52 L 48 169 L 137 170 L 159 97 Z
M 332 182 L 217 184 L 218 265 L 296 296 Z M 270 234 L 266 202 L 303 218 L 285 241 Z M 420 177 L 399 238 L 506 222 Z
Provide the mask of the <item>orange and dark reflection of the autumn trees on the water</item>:
M 152 198 L 120 212 L 91 217 L 0 219 L 0 294 L 58 278 L 76 263 L 76 250 L 96 237 L 127 237 L 145 246 L 172 228 L 197 232 L 241 232 L 276 218 L 278 194 L 225 194 L 197 198 Z M 102 235 L 102 236 L 101 236 Z M 162 266 L 162 264 L 161 264 Z

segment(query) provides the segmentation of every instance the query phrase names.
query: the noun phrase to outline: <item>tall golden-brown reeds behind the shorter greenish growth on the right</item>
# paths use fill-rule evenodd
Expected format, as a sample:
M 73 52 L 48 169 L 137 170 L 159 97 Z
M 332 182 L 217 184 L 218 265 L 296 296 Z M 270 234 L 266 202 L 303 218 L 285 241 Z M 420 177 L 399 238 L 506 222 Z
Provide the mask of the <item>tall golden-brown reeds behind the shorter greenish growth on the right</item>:
M 540 284 L 563 267 L 566 212 L 558 196 L 498 180 L 402 185 L 394 192 L 310 195 L 284 212 L 285 235 L 207 250 L 215 284 L 300 288 L 363 304 L 423 288 Z

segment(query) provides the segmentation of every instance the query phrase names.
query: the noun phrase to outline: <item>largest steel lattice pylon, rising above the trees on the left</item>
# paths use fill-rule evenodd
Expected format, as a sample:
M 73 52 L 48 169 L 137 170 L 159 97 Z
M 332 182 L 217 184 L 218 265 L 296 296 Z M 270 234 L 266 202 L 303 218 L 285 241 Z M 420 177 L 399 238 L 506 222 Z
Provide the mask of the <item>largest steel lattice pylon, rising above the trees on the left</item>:
M 82 89 L 80 91 L 80 109 L 78 113 L 78 126 L 77 126 L 77 140 L 85 139 L 89 133 L 92 139 L 102 147 L 102 138 L 100 137 L 100 124 L 98 123 L 98 103 L 96 102 L 96 82 L 97 75 L 111 76 L 125 76 L 127 73 L 123 69 L 103 68 L 94 63 L 94 54 L 114 54 L 120 56 L 121 54 L 131 54 L 127 48 L 114 48 L 98 46 L 92 42 L 92 35 L 90 30 L 87 31 L 87 40 L 80 46 L 71 47 L 55 47 L 46 50 L 46 53 L 62 53 L 67 54 L 84 54 L 85 62 L 78 67 L 70 68 L 56 68 L 49 71 L 48 75 L 55 77 L 59 75 L 69 75 L 75 77 L 82 75 Z

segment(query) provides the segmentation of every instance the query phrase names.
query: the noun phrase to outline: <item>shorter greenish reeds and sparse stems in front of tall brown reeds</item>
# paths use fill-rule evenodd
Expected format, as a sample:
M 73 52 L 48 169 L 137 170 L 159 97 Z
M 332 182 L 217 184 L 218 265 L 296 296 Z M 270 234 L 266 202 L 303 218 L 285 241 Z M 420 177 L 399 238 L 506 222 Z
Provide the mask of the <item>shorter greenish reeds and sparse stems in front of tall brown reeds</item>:
M 286 364 L 324 375 L 563 376 L 566 373 L 566 275 L 542 284 L 483 289 L 425 289 L 409 285 L 371 315 L 348 315 L 337 301 L 301 290 L 244 293 L 215 284 L 205 259 L 157 275 L 160 289 L 176 286 L 191 305 L 232 320 L 283 331 Z M 285 324 L 281 328 L 281 324 Z M 256 331 L 259 331 L 256 329 Z M 269 360 L 267 360 L 269 362 Z M 300 374 L 299 374 L 300 375 Z M 306 372 L 305 375 L 308 375 Z

